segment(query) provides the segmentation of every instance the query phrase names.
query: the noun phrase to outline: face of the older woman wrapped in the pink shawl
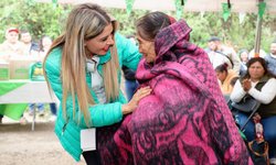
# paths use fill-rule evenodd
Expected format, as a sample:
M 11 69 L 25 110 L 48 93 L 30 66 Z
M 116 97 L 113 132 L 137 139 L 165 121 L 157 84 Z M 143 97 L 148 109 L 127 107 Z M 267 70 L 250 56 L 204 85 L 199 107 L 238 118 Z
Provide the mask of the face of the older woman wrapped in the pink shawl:
M 141 36 L 137 35 L 139 45 L 139 52 L 144 55 L 147 63 L 153 63 L 156 61 L 155 42 L 146 41 Z

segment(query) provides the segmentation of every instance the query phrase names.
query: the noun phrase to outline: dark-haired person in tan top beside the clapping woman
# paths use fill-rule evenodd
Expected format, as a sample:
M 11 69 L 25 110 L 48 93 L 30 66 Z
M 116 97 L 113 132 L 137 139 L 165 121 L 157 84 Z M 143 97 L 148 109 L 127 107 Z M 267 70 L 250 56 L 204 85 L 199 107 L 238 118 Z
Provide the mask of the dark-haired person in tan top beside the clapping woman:
M 224 63 L 215 68 L 216 77 L 220 80 L 220 87 L 224 96 L 229 96 L 232 92 L 233 86 L 231 86 L 231 80 L 238 77 L 234 70 L 227 69 L 227 67 L 229 65 Z

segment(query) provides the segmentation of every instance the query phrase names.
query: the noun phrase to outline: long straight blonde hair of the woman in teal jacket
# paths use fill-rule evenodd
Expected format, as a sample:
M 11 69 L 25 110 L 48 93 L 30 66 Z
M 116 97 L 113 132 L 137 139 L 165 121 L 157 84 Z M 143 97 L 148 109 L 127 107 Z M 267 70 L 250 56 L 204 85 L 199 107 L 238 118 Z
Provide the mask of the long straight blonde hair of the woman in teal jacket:
M 88 51 L 85 47 L 85 41 L 99 35 L 104 29 L 113 23 L 114 32 L 116 22 L 99 6 L 93 3 L 83 3 L 76 6 L 70 13 L 65 26 L 65 33 L 59 36 L 52 44 L 50 52 L 61 46 L 62 52 L 62 86 L 63 114 L 66 119 L 66 100 L 71 95 L 73 100 L 73 116 L 75 117 L 75 103 L 78 103 L 78 121 L 81 112 L 84 114 L 86 124 L 91 125 L 91 116 L 88 107 L 95 105 L 86 84 L 86 58 Z M 118 85 L 118 57 L 116 45 L 110 47 L 112 59 L 104 64 L 103 78 L 108 101 L 115 100 L 119 95 Z M 49 54 L 47 54 L 49 55 Z M 47 56 L 44 61 L 46 61 Z M 77 102 L 76 102 L 77 99 Z

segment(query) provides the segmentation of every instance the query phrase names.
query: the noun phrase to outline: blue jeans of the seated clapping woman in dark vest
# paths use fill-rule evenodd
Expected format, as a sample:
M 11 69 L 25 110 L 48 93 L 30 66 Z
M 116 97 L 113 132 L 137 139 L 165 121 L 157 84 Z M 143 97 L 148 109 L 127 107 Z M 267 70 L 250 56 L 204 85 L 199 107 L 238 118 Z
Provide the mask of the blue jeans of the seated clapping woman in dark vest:
M 238 124 L 241 127 L 244 125 L 246 119 L 250 114 L 238 112 Z M 276 117 L 263 118 L 261 120 L 264 128 L 264 138 L 268 142 L 269 145 L 269 157 L 276 157 Z M 251 120 L 245 127 L 244 134 L 246 135 L 248 141 L 253 141 L 255 139 L 255 123 Z

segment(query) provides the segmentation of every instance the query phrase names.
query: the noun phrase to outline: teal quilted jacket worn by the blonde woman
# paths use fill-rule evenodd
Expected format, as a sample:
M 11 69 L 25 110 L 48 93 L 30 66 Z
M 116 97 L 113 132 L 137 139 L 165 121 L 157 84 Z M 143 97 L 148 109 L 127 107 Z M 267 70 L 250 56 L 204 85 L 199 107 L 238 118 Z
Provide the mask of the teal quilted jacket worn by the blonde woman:
M 140 61 L 141 55 L 139 54 L 138 47 L 132 44 L 129 40 L 121 36 L 120 34 L 116 33 L 115 41 L 117 45 L 118 52 L 118 61 L 120 67 L 126 65 L 131 69 L 137 69 L 137 65 Z M 53 89 L 54 94 L 62 102 L 62 81 L 61 81 L 61 57 L 62 57 L 62 47 L 54 48 L 45 61 L 45 73 L 46 78 L 50 81 L 51 88 Z M 97 67 L 98 73 L 103 74 L 103 65 L 110 59 L 110 52 L 108 52 L 104 56 L 99 56 L 99 65 Z M 120 70 L 118 70 L 120 73 Z M 118 80 L 120 82 L 120 74 L 118 75 Z M 86 74 L 86 82 L 88 87 L 92 86 L 91 74 Z M 97 97 L 95 92 L 91 89 L 91 95 L 93 96 L 94 100 L 97 101 Z M 126 99 L 120 91 L 119 97 L 117 100 L 106 103 L 106 105 L 96 105 L 89 107 L 89 112 L 92 117 L 92 124 L 93 127 L 105 127 L 112 125 L 121 121 L 123 113 L 121 113 L 121 105 L 126 103 Z M 76 105 L 76 111 L 78 111 L 78 107 Z M 73 119 L 73 103 L 72 97 L 68 97 L 66 100 L 66 112 L 67 112 L 67 122 L 63 118 L 62 112 L 62 103 L 60 103 L 57 119 L 55 121 L 55 133 L 64 147 L 75 161 L 79 161 L 82 148 L 79 142 L 79 132 L 82 129 L 86 129 L 84 118 L 82 116 L 81 123 L 77 123 L 77 120 Z M 76 116 L 75 119 L 78 117 Z

